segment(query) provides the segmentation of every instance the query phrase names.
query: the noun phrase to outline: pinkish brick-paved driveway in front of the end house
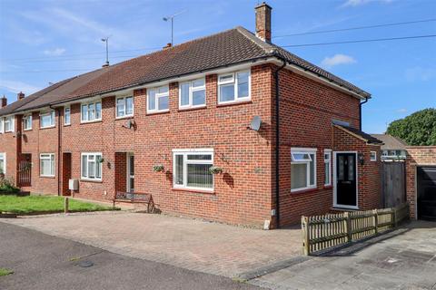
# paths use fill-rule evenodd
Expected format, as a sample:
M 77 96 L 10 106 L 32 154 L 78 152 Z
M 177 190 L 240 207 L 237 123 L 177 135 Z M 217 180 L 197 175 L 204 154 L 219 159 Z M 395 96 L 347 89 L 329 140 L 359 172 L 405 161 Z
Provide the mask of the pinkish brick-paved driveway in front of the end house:
M 94 247 L 215 275 L 236 276 L 301 254 L 301 231 L 264 231 L 130 212 L 1 221 Z

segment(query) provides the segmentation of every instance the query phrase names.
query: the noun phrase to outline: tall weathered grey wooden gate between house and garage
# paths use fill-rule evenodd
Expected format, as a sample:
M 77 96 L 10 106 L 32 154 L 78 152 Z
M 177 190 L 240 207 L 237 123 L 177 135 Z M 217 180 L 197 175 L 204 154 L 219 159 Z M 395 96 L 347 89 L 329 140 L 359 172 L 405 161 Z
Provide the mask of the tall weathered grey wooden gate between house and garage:
M 394 208 L 406 202 L 405 162 L 381 162 L 383 208 Z

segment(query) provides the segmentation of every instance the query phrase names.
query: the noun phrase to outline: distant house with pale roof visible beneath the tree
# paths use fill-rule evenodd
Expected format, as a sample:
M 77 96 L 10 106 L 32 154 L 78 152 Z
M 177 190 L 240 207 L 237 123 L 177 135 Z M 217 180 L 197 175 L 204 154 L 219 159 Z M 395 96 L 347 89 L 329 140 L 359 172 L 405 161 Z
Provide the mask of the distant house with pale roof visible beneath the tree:
M 394 137 L 390 134 L 371 134 L 372 137 L 381 140 L 381 160 L 406 160 L 406 142 L 398 137 Z

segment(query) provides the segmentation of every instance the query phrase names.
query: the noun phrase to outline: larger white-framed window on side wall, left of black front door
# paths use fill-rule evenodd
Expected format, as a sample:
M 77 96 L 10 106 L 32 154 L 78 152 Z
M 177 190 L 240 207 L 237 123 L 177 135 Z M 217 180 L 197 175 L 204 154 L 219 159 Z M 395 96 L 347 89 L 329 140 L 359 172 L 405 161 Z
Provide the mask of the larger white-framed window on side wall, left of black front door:
M 316 188 L 316 149 L 291 149 L 291 192 Z

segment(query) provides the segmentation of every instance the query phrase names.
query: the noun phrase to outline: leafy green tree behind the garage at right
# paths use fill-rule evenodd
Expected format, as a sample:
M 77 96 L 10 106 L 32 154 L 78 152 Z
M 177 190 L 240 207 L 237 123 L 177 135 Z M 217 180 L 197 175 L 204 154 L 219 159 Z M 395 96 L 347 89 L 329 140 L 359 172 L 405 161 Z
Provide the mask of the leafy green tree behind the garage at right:
M 387 134 L 411 146 L 436 145 L 436 109 L 416 111 L 404 119 L 392 121 Z

